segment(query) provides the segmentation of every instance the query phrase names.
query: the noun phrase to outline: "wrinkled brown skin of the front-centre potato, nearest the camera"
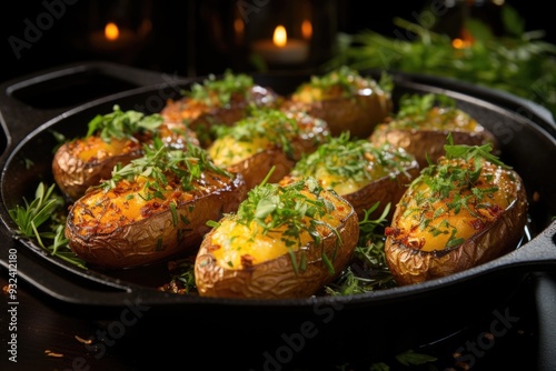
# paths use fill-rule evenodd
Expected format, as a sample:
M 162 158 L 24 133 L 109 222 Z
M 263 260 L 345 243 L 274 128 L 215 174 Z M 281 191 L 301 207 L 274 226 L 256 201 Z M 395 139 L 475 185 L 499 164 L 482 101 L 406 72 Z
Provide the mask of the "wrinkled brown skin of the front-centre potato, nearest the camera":
M 227 269 L 219 264 L 212 254 L 220 247 L 211 243 L 216 229 L 211 230 L 202 240 L 195 263 L 196 283 L 199 294 L 219 298 L 251 298 L 251 299 L 285 299 L 307 298 L 315 294 L 324 284 L 331 282 L 348 264 L 355 251 L 359 237 L 359 223 L 353 208 L 337 194 L 327 192 L 326 198 L 336 204 L 342 204 L 349 211 L 342 217 L 337 227 L 341 244 L 336 255 L 337 235 L 322 235 L 321 243 L 314 241 L 295 251 L 296 260 L 301 261 L 301 250 L 307 254 L 307 269 L 296 274 L 289 254 L 256 263 L 241 269 Z M 335 218 L 338 218 L 335 214 Z M 332 261 L 335 272 L 330 274 L 322 262 L 322 252 Z

